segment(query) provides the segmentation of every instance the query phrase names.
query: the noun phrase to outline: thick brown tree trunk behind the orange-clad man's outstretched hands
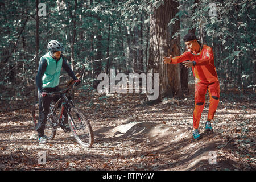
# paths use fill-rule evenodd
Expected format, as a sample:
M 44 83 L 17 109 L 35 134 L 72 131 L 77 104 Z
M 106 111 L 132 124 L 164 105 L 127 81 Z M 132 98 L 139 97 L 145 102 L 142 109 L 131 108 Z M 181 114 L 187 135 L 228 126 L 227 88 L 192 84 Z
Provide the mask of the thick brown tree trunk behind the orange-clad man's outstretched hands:
M 159 97 L 162 98 L 174 94 L 182 94 L 180 87 L 179 66 L 176 64 L 163 64 L 163 56 L 179 54 L 179 43 L 171 47 L 171 35 L 168 30 L 168 23 L 174 18 L 176 2 L 167 0 L 164 5 L 154 9 L 150 15 L 150 49 L 149 49 L 149 73 L 159 73 Z M 169 73 L 169 75 L 168 75 Z

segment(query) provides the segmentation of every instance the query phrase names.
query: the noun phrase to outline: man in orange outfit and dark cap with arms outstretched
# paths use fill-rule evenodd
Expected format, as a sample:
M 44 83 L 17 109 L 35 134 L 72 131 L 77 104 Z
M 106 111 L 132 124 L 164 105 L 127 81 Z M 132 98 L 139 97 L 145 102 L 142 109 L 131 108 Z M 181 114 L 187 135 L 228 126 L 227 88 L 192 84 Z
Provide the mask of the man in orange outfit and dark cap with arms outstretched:
M 188 33 L 184 37 L 185 45 L 188 51 L 177 57 L 164 57 L 163 63 L 177 64 L 183 62 L 185 67 L 192 67 L 193 75 L 195 77 L 195 109 L 193 112 L 193 138 L 200 139 L 199 122 L 201 113 L 204 109 L 205 94 L 209 92 L 210 106 L 205 123 L 205 131 L 213 131 L 211 121 L 218 107 L 220 99 L 220 84 L 216 68 L 214 65 L 214 56 L 212 48 L 203 45 L 197 41 L 195 34 Z M 189 61 L 187 61 L 189 60 Z

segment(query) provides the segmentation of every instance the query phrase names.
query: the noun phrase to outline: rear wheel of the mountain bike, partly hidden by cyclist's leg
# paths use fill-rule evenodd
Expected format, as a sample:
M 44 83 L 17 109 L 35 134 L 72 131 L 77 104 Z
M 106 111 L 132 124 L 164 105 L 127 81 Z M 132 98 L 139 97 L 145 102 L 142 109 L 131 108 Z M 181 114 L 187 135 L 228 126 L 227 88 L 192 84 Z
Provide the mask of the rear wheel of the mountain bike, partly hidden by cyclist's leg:
M 32 109 L 32 121 L 34 128 L 36 129 L 36 124 L 38 121 L 38 114 L 39 114 L 39 104 L 35 104 Z M 52 140 L 56 135 L 56 130 L 52 127 L 51 123 L 48 121 L 48 119 L 51 119 L 48 115 L 46 127 L 44 129 L 44 135 L 46 135 L 47 140 Z

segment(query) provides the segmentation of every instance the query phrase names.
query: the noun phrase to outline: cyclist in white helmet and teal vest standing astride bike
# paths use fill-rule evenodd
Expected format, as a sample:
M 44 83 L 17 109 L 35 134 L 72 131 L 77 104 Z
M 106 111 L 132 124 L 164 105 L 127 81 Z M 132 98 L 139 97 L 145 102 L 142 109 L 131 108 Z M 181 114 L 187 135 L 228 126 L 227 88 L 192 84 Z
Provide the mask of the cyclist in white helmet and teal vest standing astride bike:
M 38 73 L 36 75 L 36 86 L 39 92 L 39 118 L 36 124 L 36 131 L 38 132 L 39 143 L 47 143 L 47 138 L 44 135 L 44 129 L 49 113 L 49 106 L 53 101 L 59 100 L 59 96 L 49 97 L 47 92 L 59 91 L 58 87 L 60 82 L 60 71 L 64 68 L 68 75 L 79 84 L 80 80 L 77 79 L 75 73 L 68 65 L 64 56 L 61 54 L 63 46 L 57 40 L 51 40 L 47 45 L 47 52 L 40 58 Z M 63 130 L 70 131 L 67 127 L 68 117 L 67 113 L 63 113 L 64 120 L 61 122 Z

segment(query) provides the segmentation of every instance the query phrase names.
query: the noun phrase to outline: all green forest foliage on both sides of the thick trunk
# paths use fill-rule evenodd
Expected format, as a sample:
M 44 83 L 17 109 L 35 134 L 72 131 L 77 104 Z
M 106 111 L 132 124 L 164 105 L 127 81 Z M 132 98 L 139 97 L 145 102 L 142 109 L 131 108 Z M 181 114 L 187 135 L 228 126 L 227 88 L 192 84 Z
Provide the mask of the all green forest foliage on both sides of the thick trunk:
M 39 57 L 49 40 L 56 39 L 63 43 L 70 64 L 73 45 L 75 72 L 85 66 L 83 90 L 92 89 L 97 73 L 110 68 L 146 72 L 150 14 L 164 6 L 164 0 L 41 2 L 46 3 L 47 15 L 39 17 Z M 214 1 L 216 17 L 209 16 L 213 1 L 179 2 L 179 12 L 168 26 L 180 20 L 181 30 L 172 39 L 192 28 L 200 37 L 202 27 L 204 43 L 214 45 L 220 79 L 253 88 L 255 1 Z M 5 0 L 0 8 L 0 94 L 1 99 L 18 100 L 35 88 L 36 3 Z

